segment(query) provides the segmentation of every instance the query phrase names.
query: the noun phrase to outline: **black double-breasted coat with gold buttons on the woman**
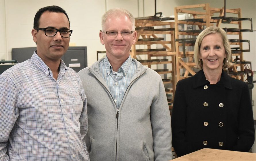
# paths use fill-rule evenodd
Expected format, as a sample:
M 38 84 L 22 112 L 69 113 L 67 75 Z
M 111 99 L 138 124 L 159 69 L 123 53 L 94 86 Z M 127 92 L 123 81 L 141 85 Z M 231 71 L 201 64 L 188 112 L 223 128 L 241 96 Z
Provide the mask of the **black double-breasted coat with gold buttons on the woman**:
M 249 88 L 222 70 L 217 84 L 203 70 L 177 83 L 172 109 L 172 146 L 177 156 L 202 148 L 248 152 L 254 143 Z

